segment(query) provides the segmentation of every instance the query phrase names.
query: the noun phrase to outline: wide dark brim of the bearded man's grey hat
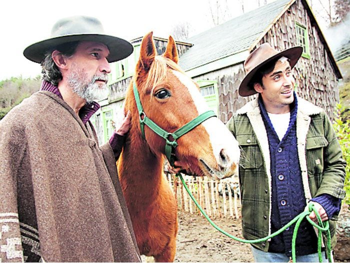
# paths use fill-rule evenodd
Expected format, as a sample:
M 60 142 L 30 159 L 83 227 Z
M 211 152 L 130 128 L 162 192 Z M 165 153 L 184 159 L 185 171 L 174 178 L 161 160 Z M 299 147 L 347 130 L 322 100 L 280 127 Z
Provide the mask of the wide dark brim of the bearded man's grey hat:
M 105 44 L 109 49 L 109 55 L 107 57 L 109 62 L 123 59 L 133 51 L 132 44 L 122 38 L 105 34 L 88 33 L 57 36 L 36 42 L 26 47 L 23 55 L 33 62 L 41 63 L 47 51 L 54 50 L 54 47 L 59 44 L 72 41 L 93 41 Z

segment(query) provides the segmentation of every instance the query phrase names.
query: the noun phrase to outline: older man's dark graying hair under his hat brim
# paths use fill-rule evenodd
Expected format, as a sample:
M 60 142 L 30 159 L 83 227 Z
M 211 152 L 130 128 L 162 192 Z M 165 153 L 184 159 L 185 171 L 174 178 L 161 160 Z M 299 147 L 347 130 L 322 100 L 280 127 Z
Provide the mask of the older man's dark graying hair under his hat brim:
M 42 79 L 50 82 L 53 85 L 57 85 L 58 81 L 62 79 L 62 74 L 59 71 L 56 63 L 52 59 L 52 51 L 58 50 L 63 56 L 71 57 L 76 50 L 77 45 L 80 41 L 73 41 L 63 43 L 55 46 L 46 52 L 45 58 L 41 61 L 41 73 Z

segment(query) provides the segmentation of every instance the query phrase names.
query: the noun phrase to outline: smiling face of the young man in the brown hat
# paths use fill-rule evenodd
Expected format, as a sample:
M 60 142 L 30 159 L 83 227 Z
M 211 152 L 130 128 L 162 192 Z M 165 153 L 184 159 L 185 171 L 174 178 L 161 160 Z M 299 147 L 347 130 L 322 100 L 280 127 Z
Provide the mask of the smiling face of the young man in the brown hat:
M 286 58 L 277 60 L 271 72 L 263 75 L 262 86 L 254 84 L 260 93 L 265 108 L 270 113 L 289 112 L 289 104 L 293 102 L 294 78 Z

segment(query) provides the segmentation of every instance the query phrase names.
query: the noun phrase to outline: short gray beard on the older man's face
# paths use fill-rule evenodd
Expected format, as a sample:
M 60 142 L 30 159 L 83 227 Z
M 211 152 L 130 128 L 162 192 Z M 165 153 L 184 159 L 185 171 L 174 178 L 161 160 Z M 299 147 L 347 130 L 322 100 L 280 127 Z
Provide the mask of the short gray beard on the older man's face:
M 101 100 L 108 96 L 109 90 L 107 84 L 99 86 L 95 82 L 97 79 L 108 79 L 106 75 L 101 76 L 93 75 L 89 82 L 84 81 L 86 74 L 79 74 L 74 71 L 68 76 L 68 86 L 72 91 L 82 99 L 86 100 L 86 103 L 91 103 L 93 100 Z M 87 82 L 87 83 L 86 83 Z

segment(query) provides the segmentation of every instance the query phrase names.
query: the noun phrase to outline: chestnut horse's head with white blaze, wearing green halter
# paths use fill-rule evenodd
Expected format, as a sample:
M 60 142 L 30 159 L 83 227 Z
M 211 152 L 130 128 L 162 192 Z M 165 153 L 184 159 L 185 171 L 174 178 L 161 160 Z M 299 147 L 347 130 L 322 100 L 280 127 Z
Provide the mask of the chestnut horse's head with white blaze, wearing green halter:
M 156 54 L 152 32 L 143 37 L 133 82 L 144 114 L 141 117 L 136 115 L 132 88 L 127 91 L 125 109 L 133 112 L 131 129 L 137 129 L 137 134 L 130 139 L 145 139 L 154 155 L 164 154 L 165 140 L 147 125 L 144 125 L 143 139 L 140 118 L 146 115 L 163 130 L 172 133 L 209 110 L 198 84 L 181 70 L 177 62 L 176 44 L 171 36 L 162 55 Z M 173 154 L 193 174 L 221 179 L 237 170 L 238 142 L 216 116 L 207 118 L 176 142 Z

